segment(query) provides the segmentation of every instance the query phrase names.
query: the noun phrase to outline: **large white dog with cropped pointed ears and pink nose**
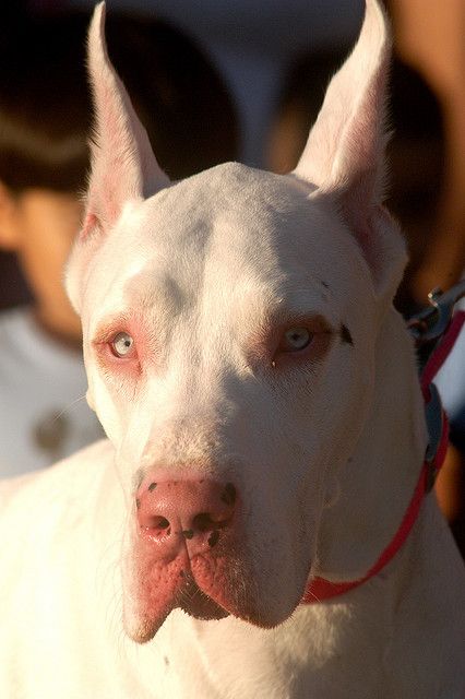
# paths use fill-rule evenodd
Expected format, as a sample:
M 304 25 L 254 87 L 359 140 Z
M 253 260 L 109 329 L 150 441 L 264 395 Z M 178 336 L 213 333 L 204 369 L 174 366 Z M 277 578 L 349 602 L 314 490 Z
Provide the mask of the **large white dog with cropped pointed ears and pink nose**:
M 409 506 L 428 435 L 392 308 L 382 10 L 295 173 L 172 183 L 103 23 L 68 291 L 109 441 L 2 486 L 0 696 L 463 698 L 464 569 L 433 496 Z

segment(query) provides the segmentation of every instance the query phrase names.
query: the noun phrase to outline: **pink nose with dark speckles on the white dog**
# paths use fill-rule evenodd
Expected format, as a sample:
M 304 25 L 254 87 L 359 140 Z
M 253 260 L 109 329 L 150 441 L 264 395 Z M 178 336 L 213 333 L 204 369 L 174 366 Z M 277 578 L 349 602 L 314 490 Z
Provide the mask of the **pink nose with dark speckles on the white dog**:
M 144 479 L 136 495 L 141 533 L 168 550 L 188 541 L 189 548 L 212 548 L 230 528 L 237 506 L 231 483 L 208 478 Z M 192 541 L 191 541 L 192 540 Z

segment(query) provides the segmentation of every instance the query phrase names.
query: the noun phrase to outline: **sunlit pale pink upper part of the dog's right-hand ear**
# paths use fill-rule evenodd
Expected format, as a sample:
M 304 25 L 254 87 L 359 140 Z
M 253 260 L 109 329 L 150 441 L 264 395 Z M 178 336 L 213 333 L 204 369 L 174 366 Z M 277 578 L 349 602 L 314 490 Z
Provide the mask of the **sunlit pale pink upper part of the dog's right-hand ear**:
M 295 173 L 324 191 L 350 188 L 354 206 L 381 200 L 384 94 L 390 37 L 377 0 L 367 0 L 359 39 L 332 79 Z

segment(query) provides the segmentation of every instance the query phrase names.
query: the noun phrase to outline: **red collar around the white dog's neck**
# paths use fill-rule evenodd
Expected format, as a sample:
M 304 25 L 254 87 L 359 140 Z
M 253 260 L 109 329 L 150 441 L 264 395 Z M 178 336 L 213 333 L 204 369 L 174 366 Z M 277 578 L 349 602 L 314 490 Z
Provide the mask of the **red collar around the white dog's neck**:
M 420 383 L 425 400 L 426 418 L 430 439 L 417 486 L 394 537 L 381 553 L 375 564 L 362 578 L 349 582 L 330 582 L 324 578 L 313 578 L 313 580 L 308 583 L 305 591 L 301 600 L 303 604 L 323 602 L 324 600 L 330 600 L 331 597 L 344 594 L 345 592 L 363 584 L 363 582 L 367 582 L 367 580 L 377 576 L 384 566 L 389 564 L 410 533 L 420 511 L 421 502 L 434 485 L 436 476 L 442 466 L 448 449 L 448 418 L 442 408 L 441 399 L 439 398 L 438 390 L 434 383 L 432 383 L 432 380 L 454 346 L 455 340 L 457 339 L 464 322 L 465 311 L 456 312 L 449 330 L 444 334 L 440 344 L 436 347 L 421 374 Z

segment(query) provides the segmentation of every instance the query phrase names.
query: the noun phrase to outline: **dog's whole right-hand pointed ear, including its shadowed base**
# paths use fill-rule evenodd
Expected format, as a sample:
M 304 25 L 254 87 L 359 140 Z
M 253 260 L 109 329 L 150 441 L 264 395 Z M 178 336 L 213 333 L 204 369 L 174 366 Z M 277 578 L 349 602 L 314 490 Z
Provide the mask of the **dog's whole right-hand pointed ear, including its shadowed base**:
M 332 79 L 294 171 L 335 200 L 370 266 L 377 296 L 391 301 L 406 262 L 405 244 L 382 208 L 388 20 L 367 0 L 359 39 Z

